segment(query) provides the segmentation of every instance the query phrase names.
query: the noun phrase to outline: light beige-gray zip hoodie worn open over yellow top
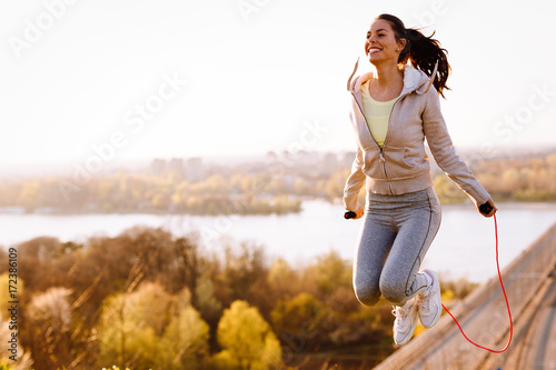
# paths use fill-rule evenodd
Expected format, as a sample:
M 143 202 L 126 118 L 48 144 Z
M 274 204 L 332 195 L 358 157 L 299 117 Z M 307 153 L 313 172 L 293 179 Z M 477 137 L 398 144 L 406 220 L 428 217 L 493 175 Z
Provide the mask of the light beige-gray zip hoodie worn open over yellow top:
M 394 103 L 380 149 L 363 111 L 361 84 L 371 78 L 373 72 L 368 72 L 353 82 L 351 78 L 348 81 L 348 91 L 354 98 L 349 118 L 356 133 L 357 154 L 344 188 L 345 208 L 357 210 L 357 198 L 364 181 L 368 191 L 380 194 L 403 194 L 431 187 L 425 138 L 436 162 L 448 178 L 476 206 L 485 203 L 490 196 L 456 154 L 440 112 L 438 92 L 431 86 L 433 80 L 425 72 L 406 66 L 404 89 Z

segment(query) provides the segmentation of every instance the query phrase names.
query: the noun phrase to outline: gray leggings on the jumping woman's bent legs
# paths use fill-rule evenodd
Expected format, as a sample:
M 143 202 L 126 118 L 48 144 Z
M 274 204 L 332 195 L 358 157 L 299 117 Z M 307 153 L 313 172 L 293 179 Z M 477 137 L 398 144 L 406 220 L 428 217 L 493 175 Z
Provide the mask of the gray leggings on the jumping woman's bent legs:
M 367 193 L 354 258 L 354 289 L 361 303 L 374 306 L 383 294 L 403 306 L 427 286 L 417 272 L 440 218 L 433 188 L 401 196 Z

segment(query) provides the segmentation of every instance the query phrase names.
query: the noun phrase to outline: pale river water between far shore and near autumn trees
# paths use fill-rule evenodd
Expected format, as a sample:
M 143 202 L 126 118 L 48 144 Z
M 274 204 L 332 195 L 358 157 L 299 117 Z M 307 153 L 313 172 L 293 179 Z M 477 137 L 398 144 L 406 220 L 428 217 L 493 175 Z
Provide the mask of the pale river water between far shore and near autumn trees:
M 556 222 L 556 204 L 497 204 L 500 267 L 508 264 Z M 304 210 L 286 216 L 157 216 L 157 214 L 0 214 L 0 244 L 9 247 L 39 236 L 85 242 L 89 237 L 116 237 L 142 224 L 163 227 L 180 236 L 200 232 L 206 248 L 218 250 L 222 240 L 265 246 L 270 259 L 281 257 L 294 266 L 336 250 L 353 259 L 360 220 L 344 220 L 338 204 L 306 201 Z M 494 220 L 471 206 L 444 206 L 440 230 L 423 267 L 450 279 L 486 281 L 496 274 Z

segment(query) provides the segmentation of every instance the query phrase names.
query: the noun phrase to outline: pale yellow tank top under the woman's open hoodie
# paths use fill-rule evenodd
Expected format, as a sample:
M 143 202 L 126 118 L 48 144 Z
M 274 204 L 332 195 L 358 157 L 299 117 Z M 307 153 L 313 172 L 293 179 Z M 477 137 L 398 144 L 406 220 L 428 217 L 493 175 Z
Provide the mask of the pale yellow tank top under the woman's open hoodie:
M 370 81 L 370 80 L 369 80 Z M 388 121 L 394 103 L 398 98 L 388 101 L 376 101 L 369 93 L 369 84 L 361 84 L 363 111 L 367 119 L 370 133 L 380 148 L 384 146 L 386 132 L 388 131 Z

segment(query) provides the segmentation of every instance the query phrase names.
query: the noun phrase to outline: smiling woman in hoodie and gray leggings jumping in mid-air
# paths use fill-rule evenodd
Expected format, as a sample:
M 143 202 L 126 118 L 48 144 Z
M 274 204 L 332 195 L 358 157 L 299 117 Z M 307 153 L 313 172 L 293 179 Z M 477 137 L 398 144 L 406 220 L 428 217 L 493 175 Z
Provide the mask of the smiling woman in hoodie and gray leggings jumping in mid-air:
M 419 271 L 440 226 L 425 138 L 438 166 L 485 217 L 497 209 L 456 154 L 440 112 L 438 96 L 444 98 L 450 71 L 446 50 L 431 37 L 406 29 L 397 17 L 380 14 L 367 32 L 365 53 L 376 72 L 351 82 L 356 64 L 348 81 L 357 156 L 344 189 L 344 206 L 356 219 L 364 217 L 354 288 L 366 306 L 376 304 L 380 296 L 396 304 L 394 340 L 404 344 L 417 320 L 430 328 L 441 313 L 437 273 Z M 365 208 L 358 202 L 364 182 Z

